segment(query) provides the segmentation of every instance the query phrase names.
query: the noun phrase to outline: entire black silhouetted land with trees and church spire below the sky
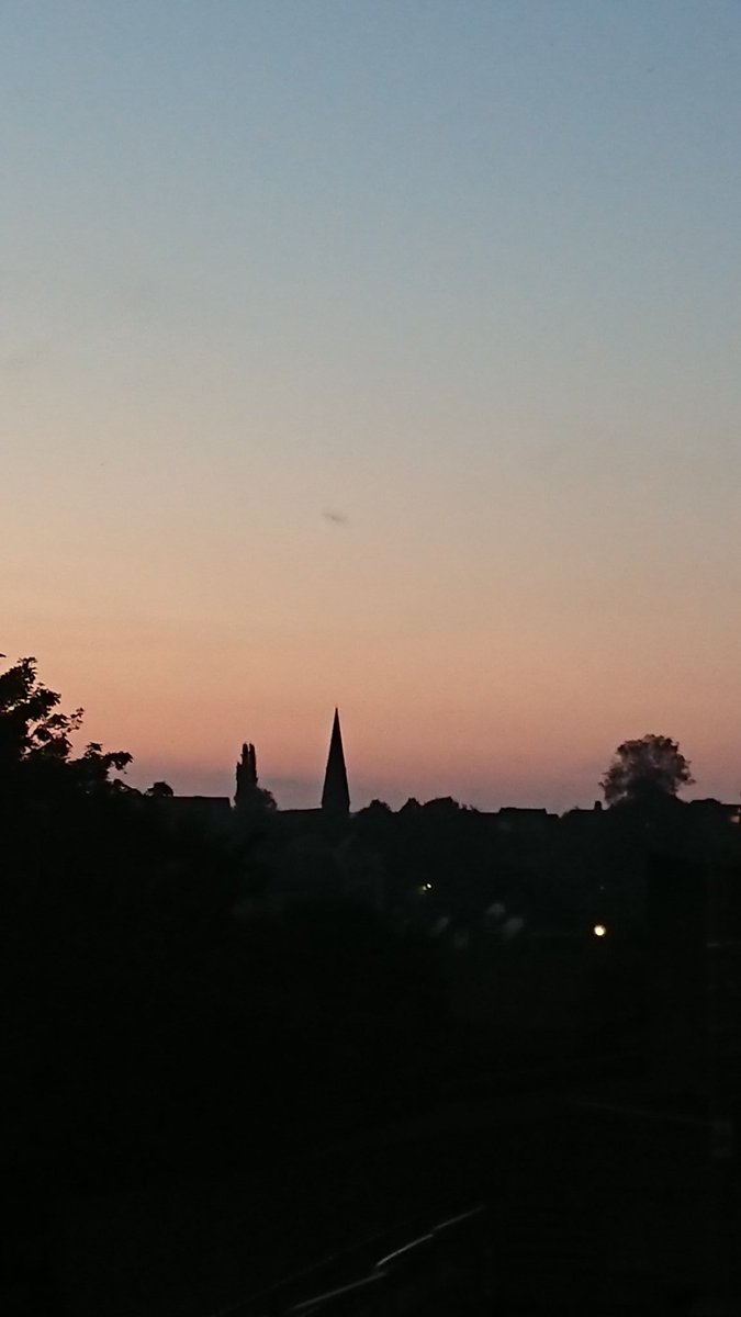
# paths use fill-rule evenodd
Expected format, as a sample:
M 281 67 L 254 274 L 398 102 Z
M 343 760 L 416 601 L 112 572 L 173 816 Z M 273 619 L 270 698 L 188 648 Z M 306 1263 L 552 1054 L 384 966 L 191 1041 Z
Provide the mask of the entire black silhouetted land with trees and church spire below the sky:
M 351 817 L 338 709 L 307 811 L 252 740 L 232 807 L 87 732 L 0 672 L 1 1310 L 314 1310 L 356 1250 L 402 1308 L 737 1296 L 741 807 L 678 741 L 622 740 L 609 807 Z

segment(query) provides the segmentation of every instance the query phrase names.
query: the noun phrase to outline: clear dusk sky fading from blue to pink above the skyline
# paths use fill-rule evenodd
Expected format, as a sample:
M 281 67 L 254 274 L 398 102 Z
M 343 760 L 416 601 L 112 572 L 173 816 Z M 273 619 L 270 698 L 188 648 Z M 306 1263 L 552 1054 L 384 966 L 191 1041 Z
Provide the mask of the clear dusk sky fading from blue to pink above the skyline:
M 738 0 L 3 0 L 0 134 L 0 648 L 133 785 L 738 798 Z

